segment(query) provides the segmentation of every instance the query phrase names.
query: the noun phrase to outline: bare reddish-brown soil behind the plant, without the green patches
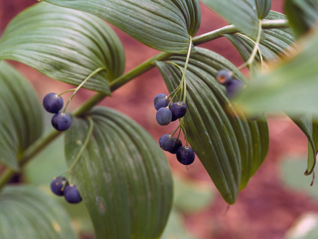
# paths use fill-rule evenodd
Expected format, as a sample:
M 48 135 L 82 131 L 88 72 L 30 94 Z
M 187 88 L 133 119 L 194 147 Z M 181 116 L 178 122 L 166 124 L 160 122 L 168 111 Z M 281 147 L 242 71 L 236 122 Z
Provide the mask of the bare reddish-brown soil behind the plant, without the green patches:
M 0 31 L 14 15 L 36 2 L 36 0 L 0 0 Z M 282 0 L 273 1 L 272 9 L 281 11 Z M 203 6 L 202 15 L 199 34 L 227 24 Z M 126 71 L 158 52 L 117 29 L 116 32 L 126 50 Z M 218 39 L 202 46 L 222 54 L 236 65 L 241 64 L 235 48 L 225 39 Z M 70 88 L 66 84 L 48 79 L 29 67 L 14 62 L 13 64 L 30 79 L 40 99 L 48 92 L 62 92 Z M 115 91 L 112 98 L 105 99 L 101 105 L 118 109 L 129 115 L 158 139 L 160 135 L 173 130 L 176 126 L 170 124 L 163 128 L 155 120 L 153 98 L 158 93 L 166 92 L 158 70 L 154 69 Z M 76 107 L 93 94 L 86 90 L 79 91 L 70 107 Z M 216 201 L 206 210 L 185 216 L 189 230 L 200 239 L 282 239 L 302 213 L 318 212 L 317 202 L 306 195 L 289 191 L 281 184 L 279 178 L 278 163 L 282 156 L 306 155 L 306 137 L 291 120 L 286 118 L 269 119 L 269 128 L 268 155 L 247 187 L 239 193 L 237 202 L 230 207 L 230 210 L 225 214 L 227 204 L 218 195 Z M 167 157 L 175 172 L 199 181 L 211 182 L 199 160 L 186 169 L 176 162 L 174 156 L 167 154 Z M 304 171 L 301 170 L 303 169 L 300 169 L 300 174 Z

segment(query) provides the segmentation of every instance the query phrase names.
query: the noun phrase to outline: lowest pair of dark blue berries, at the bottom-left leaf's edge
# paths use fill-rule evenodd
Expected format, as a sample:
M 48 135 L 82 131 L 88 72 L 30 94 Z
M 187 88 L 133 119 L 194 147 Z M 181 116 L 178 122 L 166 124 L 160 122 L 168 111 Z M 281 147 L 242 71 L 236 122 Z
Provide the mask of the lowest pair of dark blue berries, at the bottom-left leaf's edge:
M 51 190 L 58 196 L 64 196 L 65 200 L 72 204 L 79 203 L 82 200 L 76 186 L 69 185 L 64 177 L 54 178 L 51 182 Z

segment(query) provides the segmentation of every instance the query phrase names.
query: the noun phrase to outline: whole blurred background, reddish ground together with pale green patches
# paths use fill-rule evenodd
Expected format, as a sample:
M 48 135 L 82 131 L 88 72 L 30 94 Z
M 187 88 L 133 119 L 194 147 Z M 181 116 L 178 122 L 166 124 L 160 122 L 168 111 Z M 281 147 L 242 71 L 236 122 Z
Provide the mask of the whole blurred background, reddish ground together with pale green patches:
M 6 24 L 37 0 L 0 0 L 0 33 Z M 283 12 L 283 0 L 273 0 L 272 10 Z M 228 23 L 201 5 L 202 23 L 197 34 L 206 33 Z M 126 52 L 126 72 L 158 53 L 122 31 L 114 28 Z M 235 65 L 242 64 L 231 43 L 220 38 L 200 45 L 222 54 Z M 140 54 L 142 52 L 142 54 Z M 73 88 L 52 80 L 37 71 L 10 61 L 34 86 L 40 101 L 50 92 Z M 247 75 L 246 69 L 242 72 Z M 153 69 L 115 91 L 100 105 L 128 115 L 143 125 L 158 140 L 173 131 L 177 122 L 162 127 L 156 121 L 153 99 L 167 93 L 157 69 Z M 69 105 L 75 109 L 94 93 L 81 89 Z M 46 122 L 49 125 L 49 117 Z M 237 202 L 228 208 L 198 159 L 188 167 L 166 154 L 174 175 L 174 207 L 162 239 L 317 239 L 318 182 L 311 187 L 312 176 L 305 176 L 307 138 L 286 116 L 270 117 L 270 147 L 263 165 L 239 193 Z M 26 165 L 20 181 L 38 184 L 49 191 L 54 176 L 66 169 L 59 138 L 45 152 Z M 42 156 L 41 156 L 42 155 Z M 45 157 L 43 157 L 45 155 Z M 52 159 L 52 160 L 51 160 Z M 93 239 L 92 227 L 84 205 L 67 205 L 74 227 L 82 239 Z

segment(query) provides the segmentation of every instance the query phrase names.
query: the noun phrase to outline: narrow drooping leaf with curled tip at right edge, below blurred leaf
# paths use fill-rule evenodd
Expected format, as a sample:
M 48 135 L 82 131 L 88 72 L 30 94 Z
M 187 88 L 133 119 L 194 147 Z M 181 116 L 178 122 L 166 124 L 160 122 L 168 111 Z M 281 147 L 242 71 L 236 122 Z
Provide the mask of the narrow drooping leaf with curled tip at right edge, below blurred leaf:
M 315 168 L 318 150 L 318 120 L 310 115 L 291 118 L 308 138 L 308 158 L 305 175 L 310 175 Z

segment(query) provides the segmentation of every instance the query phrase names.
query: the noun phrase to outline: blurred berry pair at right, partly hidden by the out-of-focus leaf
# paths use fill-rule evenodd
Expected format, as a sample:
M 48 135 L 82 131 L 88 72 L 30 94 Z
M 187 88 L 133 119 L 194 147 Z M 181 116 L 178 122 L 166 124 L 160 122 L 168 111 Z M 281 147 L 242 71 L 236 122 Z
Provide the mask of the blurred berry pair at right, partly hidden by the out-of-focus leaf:
M 233 99 L 238 92 L 244 87 L 244 83 L 238 79 L 233 79 L 233 73 L 229 70 L 220 70 L 216 74 L 217 81 L 226 87 L 227 95 Z

